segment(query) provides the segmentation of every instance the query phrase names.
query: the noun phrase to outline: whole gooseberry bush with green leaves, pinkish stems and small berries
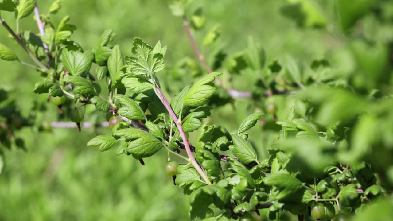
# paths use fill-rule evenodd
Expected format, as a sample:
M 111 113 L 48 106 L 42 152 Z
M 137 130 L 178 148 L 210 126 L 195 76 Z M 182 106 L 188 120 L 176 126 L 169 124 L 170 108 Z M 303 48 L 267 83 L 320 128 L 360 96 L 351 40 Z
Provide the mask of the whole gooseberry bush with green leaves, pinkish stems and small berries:
M 0 10 L 15 11 L 17 22 L 36 10 L 40 31 L 15 31 L 1 18 L 3 30 L 35 64 L 20 61 L 13 46 L 3 44 L 0 58 L 35 68 L 42 81 L 35 83 L 33 92 L 46 94 L 79 131 L 88 114 L 86 106 L 94 105 L 105 115 L 111 133 L 95 136 L 88 146 L 99 151 L 116 148 L 116 155 L 135 158 L 142 165 L 144 158 L 167 151 L 165 172 L 189 195 L 190 219 L 393 217 L 391 1 L 288 0 L 281 13 L 299 28 L 325 31 L 345 45 L 345 55 L 318 58 L 309 65 L 285 52 L 268 59 L 252 37 L 241 52 L 227 56 L 221 48 L 206 61 L 193 38 L 193 31 L 204 30 L 203 9 L 191 11 L 190 0 L 171 2 L 169 8 L 182 19 L 197 58 L 180 60 L 164 79 L 167 92 L 175 94 L 171 99 L 164 95 L 157 75 L 165 68 L 166 46 L 160 41 L 151 46 L 136 37 L 132 54 L 124 56 L 113 44 L 116 34 L 108 29 L 94 48 L 85 50 L 71 39 L 76 26 L 69 23 L 70 17 L 59 24 L 51 22 L 50 15 L 57 13 L 61 2 L 53 2 L 48 14 L 39 14 L 35 0 L 0 1 Z M 202 43 L 209 47 L 221 34 L 220 26 L 213 26 Z M 350 68 L 343 68 L 347 63 Z M 244 82 L 253 84 L 251 91 L 228 87 L 230 74 L 245 71 L 259 76 L 254 83 Z M 190 76 L 193 85 L 179 87 L 173 81 Z M 101 90 L 99 83 L 107 87 Z M 286 99 L 286 105 L 278 105 L 277 97 Z M 234 99 L 248 99 L 256 110 L 235 131 L 203 122 L 215 108 Z M 33 126 L 35 116 L 21 116 L 4 89 L 0 102 L 1 154 L 11 144 L 24 146 L 14 131 Z M 40 109 L 38 104 L 33 107 Z M 260 158 L 248 140 L 249 130 L 266 127 L 267 122 L 275 124 L 277 133 L 265 147 L 268 157 Z M 39 128 L 50 130 L 50 126 L 46 122 Z M 196 134 L 193 142 L 189 133 Z

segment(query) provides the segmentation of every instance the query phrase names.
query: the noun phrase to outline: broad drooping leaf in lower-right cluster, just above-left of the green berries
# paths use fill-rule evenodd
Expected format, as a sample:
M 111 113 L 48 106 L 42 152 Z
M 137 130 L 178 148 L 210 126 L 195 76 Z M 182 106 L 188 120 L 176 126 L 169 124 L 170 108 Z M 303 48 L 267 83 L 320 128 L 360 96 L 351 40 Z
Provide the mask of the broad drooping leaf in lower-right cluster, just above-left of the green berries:
M 263 179 L 263 182 L 278 188 L 278 193 L 275 195 L 277 200 L 288 199 L 303 188 L 303 184 L 298 179 L 285 173 L 269 175 Z

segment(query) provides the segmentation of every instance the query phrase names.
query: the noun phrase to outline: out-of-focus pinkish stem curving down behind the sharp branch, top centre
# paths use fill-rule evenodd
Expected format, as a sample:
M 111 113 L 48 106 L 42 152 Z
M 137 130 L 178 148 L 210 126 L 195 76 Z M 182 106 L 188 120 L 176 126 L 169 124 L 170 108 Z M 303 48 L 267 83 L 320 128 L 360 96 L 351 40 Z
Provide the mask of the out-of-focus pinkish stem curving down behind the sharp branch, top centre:
M 213 72 L 213 70 L 211 69 L 211 67 L 209 66 L 209 64 L 206 62 L 205 57 L 202 55 L 202 53 L 200 53 L 198 46 L 196 45 L 195 39 L 193 37 L 193 34 L 191 33 L 191 29 L 190 26 L 188 24 L 187 21 L 187 17 L 185 17 L 185 15 L 183 16 L 183 26 L 185 29 L 185 32 L 187 33 L 187 37 L 191 43 L 191 46 L 193 47 L 193 50 L 196 54 L 196 57 L 198 57 L 199 62 L 202 64 L 202 66 L 204 66 L 204 68 L 209 72 Z M 216 78 L 216 82 L 223 86 L 222 82 L 220 81 L 219 78 Z M 248 98 L 251 97 L 251 92 L 248 91 L 237 91 L 234 89 L 226 89 L 226 91 L 228 92 L 228 94 L 233 97 L 233 98 Z

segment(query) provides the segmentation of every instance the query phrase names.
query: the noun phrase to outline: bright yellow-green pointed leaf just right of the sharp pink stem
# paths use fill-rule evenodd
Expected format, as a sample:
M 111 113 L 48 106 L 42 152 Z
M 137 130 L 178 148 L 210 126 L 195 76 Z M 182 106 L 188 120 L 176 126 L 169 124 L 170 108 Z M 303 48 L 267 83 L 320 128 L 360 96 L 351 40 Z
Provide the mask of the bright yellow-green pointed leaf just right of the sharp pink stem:
M 212 72 L 205 77 L 202 77 L 196 82 L 187 94 L 184 96 L 183 104 L 190 107 L 198 107 L 208 103 L 208 99 L 216 92 L 216 88 L 213 87 L 213 81 L 215 77 L 219 76 L 220 72 Z

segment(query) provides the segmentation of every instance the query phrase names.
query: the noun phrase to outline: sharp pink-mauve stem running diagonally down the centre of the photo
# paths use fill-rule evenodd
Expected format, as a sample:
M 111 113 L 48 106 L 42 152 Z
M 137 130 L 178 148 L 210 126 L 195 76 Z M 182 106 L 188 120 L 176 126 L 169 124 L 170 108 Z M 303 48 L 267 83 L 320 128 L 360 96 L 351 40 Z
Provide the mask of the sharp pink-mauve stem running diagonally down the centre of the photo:
M 202 168 L 200 168 L 200 166 L 198 165 L 198 163 L 196 162 L 193 154 L 191 153 L 191 149 L 190 146 L 188 144 L 188 140 L 187 137 L 185 136 L 184 130 L 182 125 L 180 125 L 180 123 L 178 122 L 178 119 L 176 117 L 176 114 L 173 112 L 171 106 L 169 106 L 168 101 L 165 99 L 164 95 L 162 94 L 162 91 L 159 87 L 156 87 L 156 92 L 158 94 L 158 96 L 160 97 L 163 105 L 165 106 L 165 108 L 168 110 L 169 114 L 171 115 L 171 117 L 173 118 L 173 121 L 176 123 L 176 126 L 179 130 L 180 136 L 183 139 L 184 142 L 184 147 L 185 147 L 185 151 L 187 152 L 188 158 L 191 161 L 191 164 L 193 164 L 193 166 L 195 167 L 196 171 L 198 171 L 198 173 L 201 175 L 201 177 L 205 180 L 205 182 L 209 185 L 211 185 L 208 177 L 206 176 L 206 174 L 204 173 L 204 171 L 202 170 Z

